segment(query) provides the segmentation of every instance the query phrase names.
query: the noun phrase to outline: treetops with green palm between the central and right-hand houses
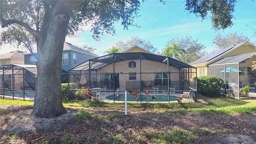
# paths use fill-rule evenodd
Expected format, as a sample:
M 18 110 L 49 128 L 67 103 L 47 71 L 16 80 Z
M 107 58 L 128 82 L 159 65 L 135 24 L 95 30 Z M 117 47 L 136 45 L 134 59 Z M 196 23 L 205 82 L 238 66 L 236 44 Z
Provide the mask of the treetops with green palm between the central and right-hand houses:
M 191 36 L 172 38 L 168 40 L 162 54 L 188 64 L 205 55 L 204 48 L 204 44 L 198 43 L 198 39 L 193 39 Z

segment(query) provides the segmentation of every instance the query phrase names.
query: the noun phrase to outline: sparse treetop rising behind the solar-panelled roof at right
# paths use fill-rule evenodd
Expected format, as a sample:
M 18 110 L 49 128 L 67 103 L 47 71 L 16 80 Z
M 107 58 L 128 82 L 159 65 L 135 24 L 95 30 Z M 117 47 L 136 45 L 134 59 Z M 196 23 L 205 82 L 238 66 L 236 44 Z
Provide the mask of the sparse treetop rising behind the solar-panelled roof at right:
M 215 36 L 213 43 L 216 44 L 215 50 L 222 50 L 224 48 L 227 48 L 229 46 L 234 46 L 235 44 L 239 44 L 241 42 L 249 41 L 249 38 L 244 35 L 238 35 L 236 32 L 229 33 L 226 36 L 222 36 L 221 34 L 218 34 Z

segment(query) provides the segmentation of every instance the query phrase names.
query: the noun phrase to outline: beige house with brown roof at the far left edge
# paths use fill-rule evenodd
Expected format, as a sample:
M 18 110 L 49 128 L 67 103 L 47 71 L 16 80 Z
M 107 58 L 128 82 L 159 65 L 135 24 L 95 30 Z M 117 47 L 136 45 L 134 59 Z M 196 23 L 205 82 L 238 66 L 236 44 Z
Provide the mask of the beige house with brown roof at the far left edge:
M 15 50 L 6 54 L 0 55 L 0 65 L 3 64 L 24 64 L 23 52 Z

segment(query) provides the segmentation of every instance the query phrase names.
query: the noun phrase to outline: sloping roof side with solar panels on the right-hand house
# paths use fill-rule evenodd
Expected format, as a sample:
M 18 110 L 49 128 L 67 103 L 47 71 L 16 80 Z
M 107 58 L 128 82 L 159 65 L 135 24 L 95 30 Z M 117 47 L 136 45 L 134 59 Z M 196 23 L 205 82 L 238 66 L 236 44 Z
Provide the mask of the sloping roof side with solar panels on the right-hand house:
M 234 45 L 234 46 L 230 46 L 230 47 L 228 47 L 228 48 L 224 48 L 224 49 L 222 49 L 222 50 L 218 50 L 218 51 L 216 51 L 216 52 L 208 53 L 208 54 L 202 56 L 201 58 L 198 58 L 197 60 L 195 60 L 194 62 L 191 62 L 191 63 L 189 63 L 189 64 L 198 64 L 198 63 L 201 63 L 201 62 L 208 62 L 208 61 L 210 61 L 210 60 L 212 60 L 212 59 L 214 59 L 214 58 L 220 56 L 221 54 L 227 52 L 228 50 L 230 50 L 230 49 L 236 49 L 236 48 L 242 46 L 242 45 L 245 44 L 245 43 L 247 43 L 247 41 L 246 41 L 246 42 L 242 42 L 242 43 L 240 43 L 240 44 L 236 44 L 236 45 Z

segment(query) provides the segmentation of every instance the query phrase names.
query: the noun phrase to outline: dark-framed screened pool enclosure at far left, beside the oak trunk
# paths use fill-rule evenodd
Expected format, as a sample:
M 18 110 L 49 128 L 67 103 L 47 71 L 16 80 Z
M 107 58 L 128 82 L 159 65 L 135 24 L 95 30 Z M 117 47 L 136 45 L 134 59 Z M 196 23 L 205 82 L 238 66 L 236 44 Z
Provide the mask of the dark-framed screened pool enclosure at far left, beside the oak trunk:
M 5 64 L 0 66 L 0 96 L 33 99 L 36 74 L 36 65 Z

